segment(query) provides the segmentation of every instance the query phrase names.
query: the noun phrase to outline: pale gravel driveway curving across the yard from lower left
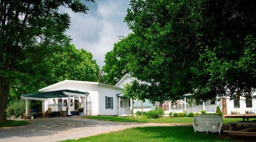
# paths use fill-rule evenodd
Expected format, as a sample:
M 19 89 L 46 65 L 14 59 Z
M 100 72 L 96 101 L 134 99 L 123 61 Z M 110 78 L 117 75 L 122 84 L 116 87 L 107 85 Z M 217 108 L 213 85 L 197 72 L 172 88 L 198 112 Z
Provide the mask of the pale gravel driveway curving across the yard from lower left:
M 77 139 L 144 126 L 173 126 L 182 124 L 106 122 L 80 117 L 55 117 L 30 119 L 30 124 L 13 128 L 0 128 L 0 142 L 55 142 Z

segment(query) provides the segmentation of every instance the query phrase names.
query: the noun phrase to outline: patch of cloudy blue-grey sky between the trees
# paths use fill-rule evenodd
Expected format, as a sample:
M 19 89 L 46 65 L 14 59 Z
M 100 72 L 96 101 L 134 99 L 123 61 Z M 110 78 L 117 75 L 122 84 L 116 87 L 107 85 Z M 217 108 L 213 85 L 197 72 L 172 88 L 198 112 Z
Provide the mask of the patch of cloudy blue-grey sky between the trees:
M 113 49 L 119 36 L 126 36 L 128 29 L 124 18 L 130 0 L 95 0 L 95 3 L 81 0 L 88 8 L 87 14 L 73 13 L 60 8 L 59 12 L 70 15 L 71 26 L 66 34 L 72 38 L 77 49 L 86 49 L 93 54 L 99 67 L 105 64 L 105 54 Z

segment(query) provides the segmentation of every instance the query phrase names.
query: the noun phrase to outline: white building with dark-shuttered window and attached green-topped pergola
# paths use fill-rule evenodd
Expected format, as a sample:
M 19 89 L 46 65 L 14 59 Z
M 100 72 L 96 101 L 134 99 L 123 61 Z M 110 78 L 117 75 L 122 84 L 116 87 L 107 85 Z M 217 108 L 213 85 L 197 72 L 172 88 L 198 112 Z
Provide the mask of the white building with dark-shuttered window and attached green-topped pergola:
M 39 93 L 21 95 L 21 98 L 26 99 L 26 113 L 28 113 L 28 100 L 42 101 L 43 111 L 49 107 L 52 108 L 52 111 L 66 110 L 68 107 L 70 108 L 68 115 L 76 110 L 78 102 L 83 104 L 85 112 L 87 106 L 87 115 L 117 116 L 121 115 L 121 111 L 126 115 L 131 113 L 131 101 L 122 96 L 121 87 L 98 82 L 65 80 L 38 91 Z M 87 97 L 86 93 L 89 93 Z M 126 111 L 124 111 L 125 109 L 121 110 L 121 108 L 125 108 Z

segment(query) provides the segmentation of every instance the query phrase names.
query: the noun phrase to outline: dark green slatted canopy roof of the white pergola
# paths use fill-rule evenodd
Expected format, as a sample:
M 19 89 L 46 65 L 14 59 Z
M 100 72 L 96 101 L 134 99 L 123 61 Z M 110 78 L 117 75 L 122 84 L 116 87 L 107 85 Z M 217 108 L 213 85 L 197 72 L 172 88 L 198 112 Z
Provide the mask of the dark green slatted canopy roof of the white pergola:
M 32 97 L 32 98 L 42 98 L 42 99 L 67 97 L 67 95 L 65 95 L 63 92 L 70 92 L 70 93 L 77 93 L 77 94 L 85 94 L 86 93 L 86 92 L 82 92 L 82 91 L 65 89 L 65 90 L 56 90 L 56 91 L 49 91 L 49 92 L 21 94 L 21 96 Z

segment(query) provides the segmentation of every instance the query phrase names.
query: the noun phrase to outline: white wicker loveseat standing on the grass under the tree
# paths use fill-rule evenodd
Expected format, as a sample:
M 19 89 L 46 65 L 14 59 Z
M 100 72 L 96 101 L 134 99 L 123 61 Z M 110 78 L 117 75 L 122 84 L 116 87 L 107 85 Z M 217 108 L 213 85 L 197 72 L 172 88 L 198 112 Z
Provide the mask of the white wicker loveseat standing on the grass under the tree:
M 221 134 L 221 127 L 223 125 L 223 119 L 221 116 L 216 115 L 199 115 L 195 116 L 192 122 L 193 128 L 196 131 L 204 132 L 208 134 L 209 132 L 215 133 L 219 132 Z

